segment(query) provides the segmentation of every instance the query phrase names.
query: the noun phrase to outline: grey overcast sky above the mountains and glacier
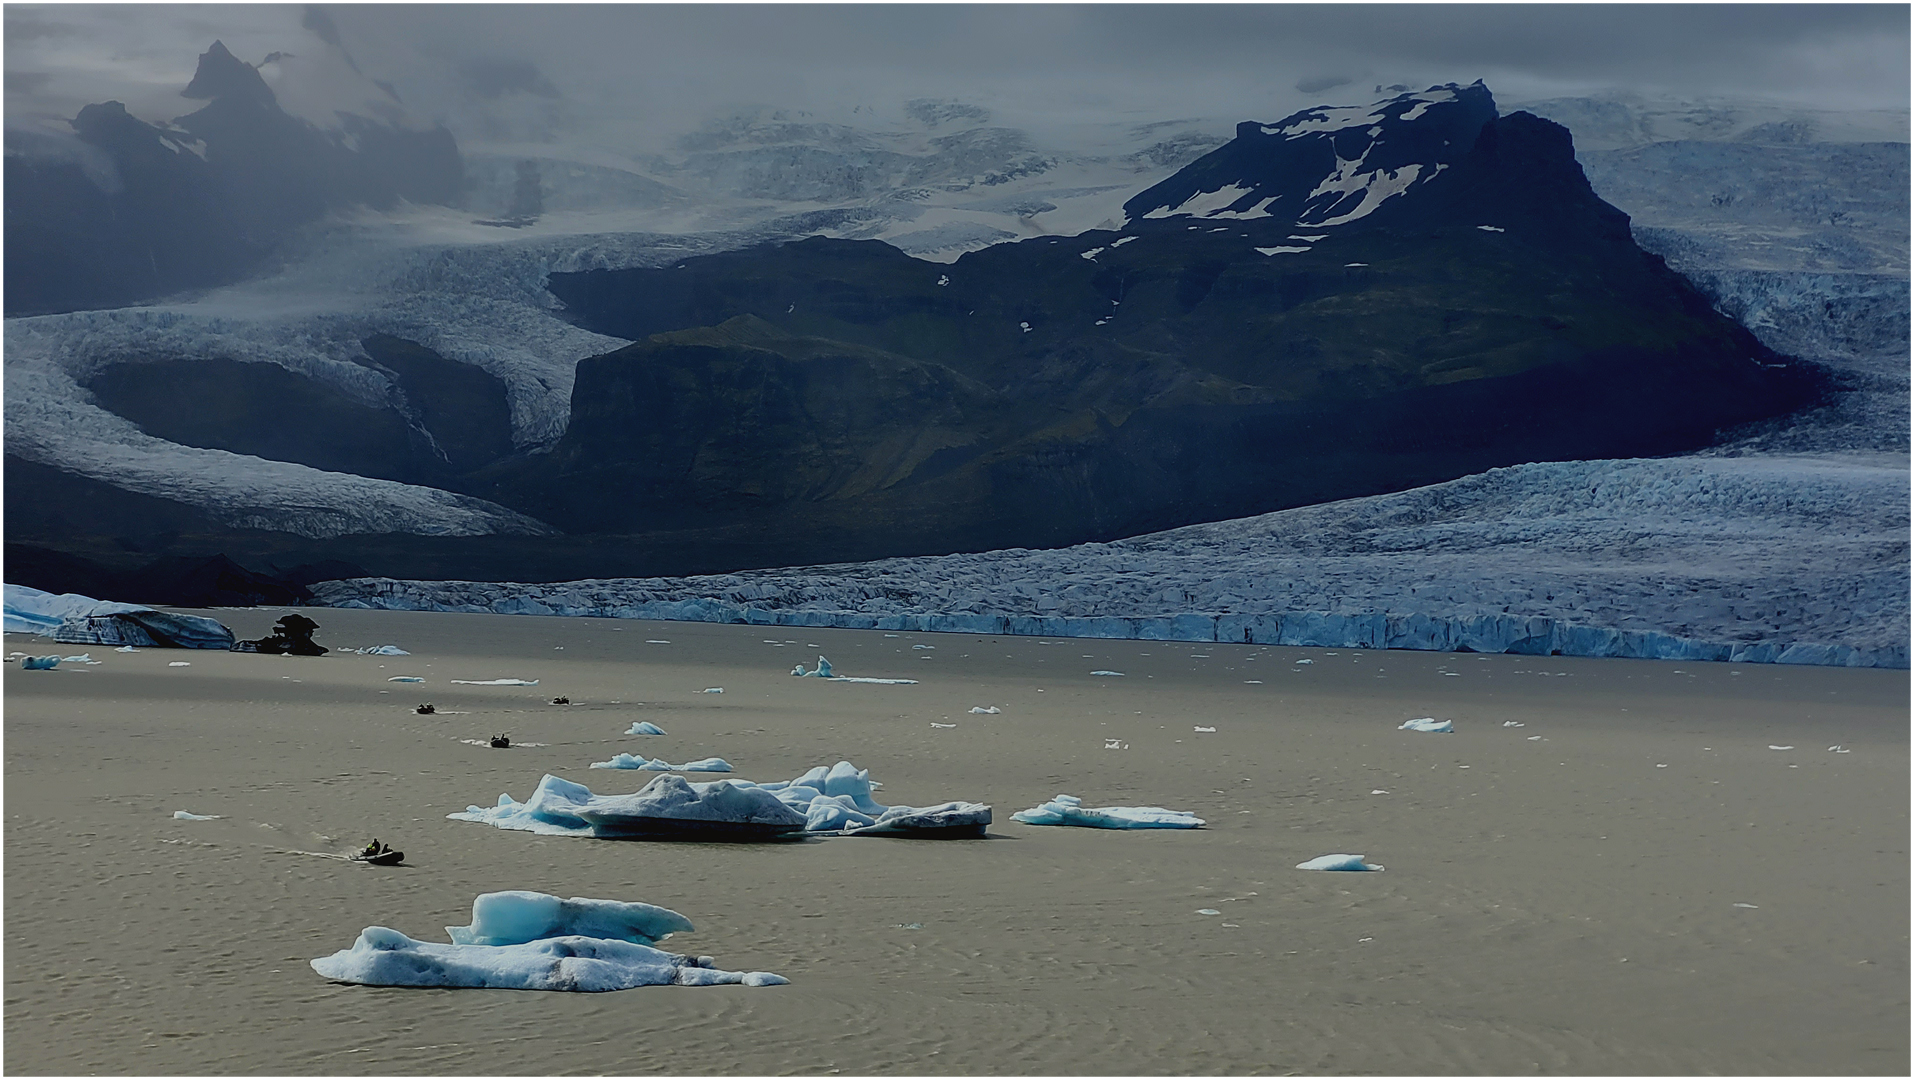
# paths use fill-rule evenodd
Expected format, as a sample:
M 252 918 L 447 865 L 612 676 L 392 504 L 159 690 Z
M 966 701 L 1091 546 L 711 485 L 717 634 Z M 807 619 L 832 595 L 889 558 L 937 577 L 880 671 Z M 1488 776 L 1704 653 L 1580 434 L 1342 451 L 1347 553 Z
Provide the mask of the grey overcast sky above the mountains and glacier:
M 1908 8 L 1881 6 L 6 6 L 8 121 L 178 96 L 212 38 L 260 61 L 339 44 L 427 119 L 484 79 L 551 123 L 685 130 L 722 107 L 836 113 L 919 96 L 999 113 L 1265 119 L 1376 84 L 1485 79 L 1504 101 L 1592 90 L 1906 109 Z M 475 67 L 477 65 L 477 67 Z M 542 79 L 544 82 L 536 82 Z M 523 86 L 521 86 L 523 88 Z M 496 86 L 494 86 L 496 90 Z M 557 94 L 555 98 L 549 94 Z M 521 94 L 524 96 L 524 94 Z M 459 132 L 469 138 L 473 132 Z

